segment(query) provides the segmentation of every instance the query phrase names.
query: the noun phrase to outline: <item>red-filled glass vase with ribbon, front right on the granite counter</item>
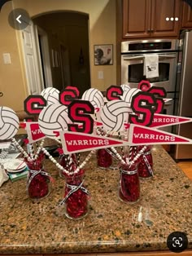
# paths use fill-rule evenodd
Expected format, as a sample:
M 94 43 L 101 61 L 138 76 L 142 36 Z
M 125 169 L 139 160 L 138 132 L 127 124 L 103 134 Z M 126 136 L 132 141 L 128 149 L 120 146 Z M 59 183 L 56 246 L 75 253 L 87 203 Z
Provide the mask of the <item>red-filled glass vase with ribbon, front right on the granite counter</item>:
M 120 167 L 119 196 L 120 200 L 126 203 L 139 201 L 140 183 L 136 164 Z

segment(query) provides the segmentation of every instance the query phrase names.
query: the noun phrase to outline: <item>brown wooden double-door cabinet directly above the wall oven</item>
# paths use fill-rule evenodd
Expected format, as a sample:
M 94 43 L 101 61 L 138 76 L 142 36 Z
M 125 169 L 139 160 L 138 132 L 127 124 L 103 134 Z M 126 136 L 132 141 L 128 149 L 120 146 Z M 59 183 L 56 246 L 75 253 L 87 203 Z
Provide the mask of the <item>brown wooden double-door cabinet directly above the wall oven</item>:
M 180 4 L 180 0 L 123 0 L 122 38 L 177 38 Z

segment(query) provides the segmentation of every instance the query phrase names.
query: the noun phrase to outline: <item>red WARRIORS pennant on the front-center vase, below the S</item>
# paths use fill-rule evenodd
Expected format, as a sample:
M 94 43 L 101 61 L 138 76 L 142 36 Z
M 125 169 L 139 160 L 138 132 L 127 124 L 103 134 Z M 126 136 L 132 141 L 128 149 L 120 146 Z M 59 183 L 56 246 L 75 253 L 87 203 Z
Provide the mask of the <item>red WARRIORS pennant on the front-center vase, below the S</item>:
M 89 151 L 98 148 L 120 147 L 125 143 L 120 139 L 111 139 L 98 135 L 88 135 L 80 132 L 68 131 L 61 131 L 60 138 L 65 154 Z M 126 142 L 126 144 L 128 143 Z

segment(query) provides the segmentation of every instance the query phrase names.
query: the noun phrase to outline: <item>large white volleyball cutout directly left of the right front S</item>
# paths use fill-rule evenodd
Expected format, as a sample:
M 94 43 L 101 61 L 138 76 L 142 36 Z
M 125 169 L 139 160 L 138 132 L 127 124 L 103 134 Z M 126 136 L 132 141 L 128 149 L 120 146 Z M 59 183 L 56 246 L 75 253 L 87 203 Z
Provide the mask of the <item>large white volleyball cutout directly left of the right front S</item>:
M 128 123 L 131 109 L 123 100 L 115 99 L 107 102 L 101 111 L 101 121 L 105 130 L 124 130 L 124 123 Z

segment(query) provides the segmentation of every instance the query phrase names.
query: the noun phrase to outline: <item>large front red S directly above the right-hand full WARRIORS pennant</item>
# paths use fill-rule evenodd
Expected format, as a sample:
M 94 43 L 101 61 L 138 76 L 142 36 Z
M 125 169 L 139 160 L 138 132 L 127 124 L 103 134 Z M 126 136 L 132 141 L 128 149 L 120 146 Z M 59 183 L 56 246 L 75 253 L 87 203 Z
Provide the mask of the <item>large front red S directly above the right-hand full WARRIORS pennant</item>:
M 155 112 L 154 105 L 155 97 L 148 92 L 138 92 L 133 95 L 131 108 L 136 115 L 130 114 L 129 122 L 140 126 L 150 126 Z

